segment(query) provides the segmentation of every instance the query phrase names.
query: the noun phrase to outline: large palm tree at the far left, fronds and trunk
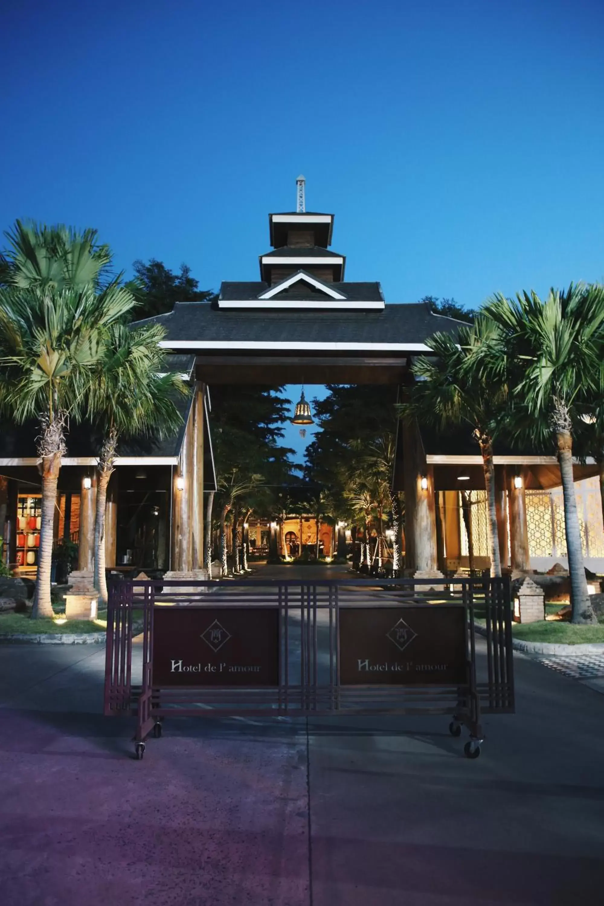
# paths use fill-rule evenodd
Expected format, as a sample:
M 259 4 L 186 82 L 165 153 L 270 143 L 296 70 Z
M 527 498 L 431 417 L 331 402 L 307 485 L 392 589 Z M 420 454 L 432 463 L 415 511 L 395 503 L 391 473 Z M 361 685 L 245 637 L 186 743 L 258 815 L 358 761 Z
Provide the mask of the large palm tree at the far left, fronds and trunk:
M 0 289 L 0 405 L 15 421 L 37 419 L 42 526 L 33 617 L 53 616 L 53 518 L 69 418 L 81 416 L 110 325 L 134 304 L 120 285 L 97 293 L 53 284 Z

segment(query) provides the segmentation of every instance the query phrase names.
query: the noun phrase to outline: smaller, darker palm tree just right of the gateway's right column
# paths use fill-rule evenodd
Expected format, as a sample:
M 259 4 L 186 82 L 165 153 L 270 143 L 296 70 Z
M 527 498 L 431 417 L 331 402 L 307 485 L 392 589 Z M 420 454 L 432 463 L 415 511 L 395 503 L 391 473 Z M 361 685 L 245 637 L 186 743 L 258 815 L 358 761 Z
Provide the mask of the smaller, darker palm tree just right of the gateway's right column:
M 435 333 L 426 343 L 437 358 L 416 359 L 412 371 L 417 380 L 410 389 L 409 400 L 398 409 L 404 418 L 415 417 L 440 429 L 464 424 L 472 429 L 483 458 L 491 575 L 500 576 L 493 442 L 504 424 L 507 385 L 504 376 L 493 381 L 481 368 L 473 367 L 478 361 L 476 351 L 490 348 L 496 333 L 495 324 L 484 317 L 477 318 L 471 326 L 460 327 L 456 337 Z

